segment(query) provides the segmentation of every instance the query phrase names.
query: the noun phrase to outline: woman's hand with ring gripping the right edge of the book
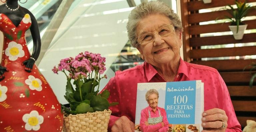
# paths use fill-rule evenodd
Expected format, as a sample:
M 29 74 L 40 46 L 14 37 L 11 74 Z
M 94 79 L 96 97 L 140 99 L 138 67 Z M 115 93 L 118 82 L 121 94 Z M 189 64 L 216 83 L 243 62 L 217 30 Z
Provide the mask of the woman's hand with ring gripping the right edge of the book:
M 228 126 L 226 112 L 219 108 L 204 111 L 202 114 L 202 132 L 225 132 Z

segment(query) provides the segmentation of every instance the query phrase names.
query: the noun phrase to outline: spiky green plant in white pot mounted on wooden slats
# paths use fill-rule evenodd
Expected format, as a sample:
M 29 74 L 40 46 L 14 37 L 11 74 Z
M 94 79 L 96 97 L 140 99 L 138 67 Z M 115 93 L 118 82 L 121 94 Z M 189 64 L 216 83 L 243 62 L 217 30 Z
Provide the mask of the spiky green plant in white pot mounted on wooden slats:
M 229 29 L 232 31 L 234 38 L 239 40 L 243 38 L 244 31 L 247 28 L 247 24 L 242 22 L 242 18 L 246 17 L 253 7 L 246 4 L 246 2 L 238 2 L 238 0 L 235 1 L 235 4 L 237 8 L 227 5 L 224 9 L 232 16 L 225 16 L 231 22 Z

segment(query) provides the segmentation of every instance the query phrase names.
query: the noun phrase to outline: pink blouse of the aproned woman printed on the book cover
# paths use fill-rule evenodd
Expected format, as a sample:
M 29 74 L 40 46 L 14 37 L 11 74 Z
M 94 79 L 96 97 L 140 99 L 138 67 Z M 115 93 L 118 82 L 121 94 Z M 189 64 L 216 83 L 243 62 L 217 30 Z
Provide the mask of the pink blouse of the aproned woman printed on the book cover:
M 159 110 L 160 114 L 163 117 L 163 122 L 164 122 L 164 127 L 162 126 L 162 123 L 157 123 L 155 125 L 145 125 L 145 122 L 148 121 L 149 113 L 148 110 L 150 111 L 150 117 L 159 117 Z M 157 107 L 156 111 L 153 111 L 153 109 L 148 106 L 144 109 L 141 110 L 141 116 L 140 116 L 140 128 L 142 132 L 166 132 L 168 130 L 168 120 L 166 116 L 166 111 L 164 108 Z

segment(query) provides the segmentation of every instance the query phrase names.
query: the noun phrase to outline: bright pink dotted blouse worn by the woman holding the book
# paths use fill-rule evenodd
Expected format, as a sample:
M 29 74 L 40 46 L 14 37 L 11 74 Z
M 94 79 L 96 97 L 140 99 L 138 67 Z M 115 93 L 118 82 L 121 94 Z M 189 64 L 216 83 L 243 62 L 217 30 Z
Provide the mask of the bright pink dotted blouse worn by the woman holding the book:
M 227 86 L 219 72 L 211 67 L 192 64 L 180 59 L 177 76 L 174 81 L 202 80 L 204 83 L 204 110 L 220 108 L 228 116 L 226 132 L 242 132 L 228 93 Z M 109 90 L 110 102 L 119 102 L 111 106 L 112 114 L 109 130 L 121 116 L 127 116 L 135 122 L 137 83 L 166 82 L 156 69 L 144 62 L 124 71 L 117 71 L 104 89 Z M 103 89 L 103 90 L 104 90 Z M 171 124 L 171 122 L 169 122 Z

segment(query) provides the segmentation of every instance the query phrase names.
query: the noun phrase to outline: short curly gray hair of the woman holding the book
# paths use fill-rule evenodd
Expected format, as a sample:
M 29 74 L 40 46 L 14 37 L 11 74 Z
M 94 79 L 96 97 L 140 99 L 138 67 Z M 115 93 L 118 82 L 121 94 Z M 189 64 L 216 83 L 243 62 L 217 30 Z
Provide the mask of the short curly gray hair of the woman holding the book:
M 138 6 L 136 6 L 131 13 L 129 14 L 128 17 L 128 23 L 126 26 L 127 32 L 128 32 L 128 37 L 131 41 L 131 45 L 133 47 L 137 46 L 137 40 L 136 40 L 136 27 L 139 23 L 139 21 L 151 14 L 162 14 L 167 16 L 172 24 L 174 25 L 176 31 L 183 31 L 182 24 L 180 21 L 180 18 L 174 11 L 166 5 L 163 2 L 160 1 L 150 1 L 147 3 L 142 3 Z

